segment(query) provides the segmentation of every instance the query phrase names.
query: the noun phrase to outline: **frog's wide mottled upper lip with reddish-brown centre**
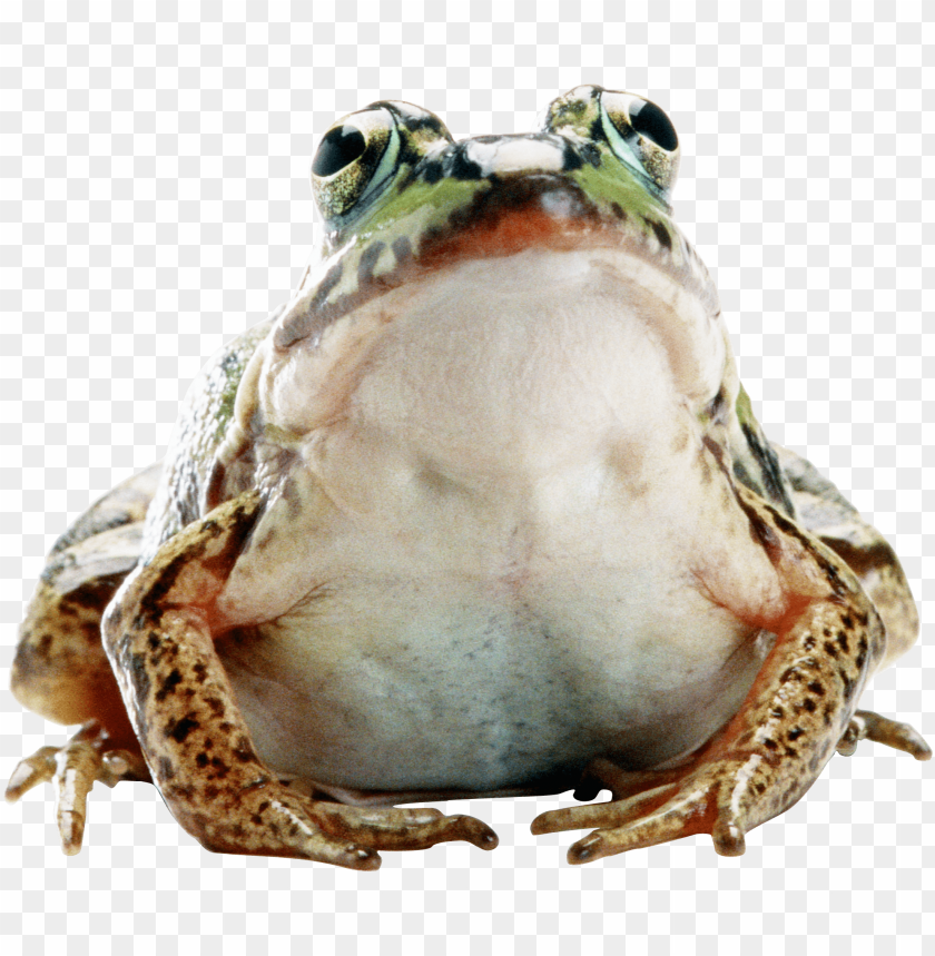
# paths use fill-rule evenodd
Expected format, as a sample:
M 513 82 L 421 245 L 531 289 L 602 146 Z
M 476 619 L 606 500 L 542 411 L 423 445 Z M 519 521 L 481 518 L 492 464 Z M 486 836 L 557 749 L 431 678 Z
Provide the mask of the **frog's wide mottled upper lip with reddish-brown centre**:
M 560 173 L 506 173 L 485 180 L 445 226 L 427 228 L 417 247 L 405 235 L 392 243 L 372 236 L 365 246 L 350 246 L 316 274 L 306 274 L 277 323 L 274 342 L 278 348 L 303 341 L 314 347 L 327 327 L 371 299 L 465 262 L 585 248 L 619 248 L 710 300 L 710 312 L 717 312 L 707 270 L 673 227 L 647 218 L 636 221 L 616 203 L 599 206 Z

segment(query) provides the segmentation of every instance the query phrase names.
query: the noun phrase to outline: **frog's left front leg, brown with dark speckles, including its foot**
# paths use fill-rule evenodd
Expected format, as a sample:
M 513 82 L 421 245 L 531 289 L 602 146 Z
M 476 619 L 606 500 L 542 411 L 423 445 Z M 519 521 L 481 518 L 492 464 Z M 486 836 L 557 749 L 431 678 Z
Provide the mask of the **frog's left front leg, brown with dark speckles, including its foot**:
M 215 652 L 211 609 L 262 513 L 245 492 L 175 535 L 117 594 L 105 645 L 154 782 L 176 819 L 216 852 L 376 869 L 380 849 L 463 839 L 493 849 L 472 817 L 309 799 L 259 759 Z

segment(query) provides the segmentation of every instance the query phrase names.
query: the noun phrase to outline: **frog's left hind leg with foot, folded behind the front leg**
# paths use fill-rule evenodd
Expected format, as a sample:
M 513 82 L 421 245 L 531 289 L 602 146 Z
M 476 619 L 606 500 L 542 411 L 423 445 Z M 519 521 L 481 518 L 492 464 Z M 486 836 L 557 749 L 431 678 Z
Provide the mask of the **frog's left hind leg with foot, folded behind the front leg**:
M 97 780 L 148 780 L 114 672 L 101 644 L 104 610 L 140 553 L 142 521 L 159 465 L 118 485 L 56 542 L 20 627 L 11 689 L 28 709 L 82 725 L 63 747 L 42 747 L 16 768 L 16 801 L 52 780 L 62 849 L 81 847 L 85 805 Z

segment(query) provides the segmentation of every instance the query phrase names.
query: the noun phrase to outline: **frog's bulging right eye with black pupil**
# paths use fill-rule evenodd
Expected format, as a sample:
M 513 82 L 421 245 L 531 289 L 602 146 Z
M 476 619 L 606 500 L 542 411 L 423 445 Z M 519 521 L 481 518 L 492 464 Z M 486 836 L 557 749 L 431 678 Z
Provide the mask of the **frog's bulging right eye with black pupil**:
M 679 171 L 679 137 L 654 102 L 627 92 L 601 92 L 601 126 L 619 159 L 636 165 L 668 193 Z

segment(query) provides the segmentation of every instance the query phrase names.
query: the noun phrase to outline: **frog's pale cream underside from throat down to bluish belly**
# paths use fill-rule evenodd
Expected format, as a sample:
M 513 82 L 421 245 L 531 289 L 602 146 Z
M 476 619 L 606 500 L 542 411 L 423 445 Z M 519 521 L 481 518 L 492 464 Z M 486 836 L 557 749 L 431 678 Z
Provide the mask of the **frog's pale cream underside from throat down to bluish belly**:
M 737 711 L 783 595 L 702 444 L 722 326 L 663 272 L 464 264 L 256 362 L 270 503 L 218 651 L 268 765 L 345 797 L 561 789 Z

